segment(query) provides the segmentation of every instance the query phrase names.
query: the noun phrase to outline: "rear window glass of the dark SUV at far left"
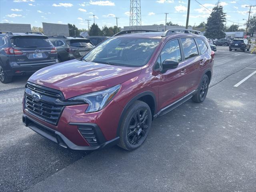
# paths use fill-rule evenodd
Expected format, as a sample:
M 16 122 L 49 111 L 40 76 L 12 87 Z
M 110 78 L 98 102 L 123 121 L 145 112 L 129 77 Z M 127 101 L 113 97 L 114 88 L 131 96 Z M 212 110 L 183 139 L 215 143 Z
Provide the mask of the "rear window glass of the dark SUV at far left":
M 20 48 L 52 47 L 48 38 L 18 36 L 11 39 L 12 45 Z

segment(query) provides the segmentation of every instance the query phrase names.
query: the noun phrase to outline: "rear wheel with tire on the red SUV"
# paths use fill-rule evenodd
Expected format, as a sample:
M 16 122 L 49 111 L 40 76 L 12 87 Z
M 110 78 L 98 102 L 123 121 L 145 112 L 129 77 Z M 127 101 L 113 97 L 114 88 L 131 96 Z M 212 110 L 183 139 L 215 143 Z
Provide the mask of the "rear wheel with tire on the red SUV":
M 192 97 L 192 101 L 196 103 L 202 103 L 206 98 L 208 88 L 209 88 L 209 78 L 206 74 L 204 74 L 200 82 L 200 86 L 198 87 L 197 93 Z

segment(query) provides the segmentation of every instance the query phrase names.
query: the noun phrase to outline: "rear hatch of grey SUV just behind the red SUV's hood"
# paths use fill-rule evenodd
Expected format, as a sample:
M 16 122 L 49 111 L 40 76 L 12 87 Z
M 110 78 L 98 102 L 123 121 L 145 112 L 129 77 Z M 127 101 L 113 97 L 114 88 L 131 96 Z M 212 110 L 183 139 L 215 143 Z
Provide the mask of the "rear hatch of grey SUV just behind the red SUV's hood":
M 90 44 L 89 39 L 71 39 L 69 46 L 74 50 L 74 57 L 80 58 L 88 53 L 94 46 Z

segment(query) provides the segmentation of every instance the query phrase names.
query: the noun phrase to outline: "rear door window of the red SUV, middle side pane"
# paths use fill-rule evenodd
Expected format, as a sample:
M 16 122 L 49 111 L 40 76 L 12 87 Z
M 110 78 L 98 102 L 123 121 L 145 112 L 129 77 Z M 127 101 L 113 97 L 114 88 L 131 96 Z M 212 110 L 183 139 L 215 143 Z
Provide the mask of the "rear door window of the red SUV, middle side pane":
M 182 38 L 181 39 L 185 59 L 198 56 L 198 50 L 196 47 L 196 42 L 193 38 Z

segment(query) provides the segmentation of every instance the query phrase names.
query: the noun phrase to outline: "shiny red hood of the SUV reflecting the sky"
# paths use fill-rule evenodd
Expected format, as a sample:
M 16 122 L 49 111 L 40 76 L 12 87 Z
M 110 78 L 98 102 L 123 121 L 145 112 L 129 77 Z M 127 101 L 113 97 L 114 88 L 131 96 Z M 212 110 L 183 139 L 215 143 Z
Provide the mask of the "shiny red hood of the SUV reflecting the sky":
M 66 99 L 121 84 L 140 74 L 140 67 L 70 60 L 35 72 L 28 81 L 60 90 Z

